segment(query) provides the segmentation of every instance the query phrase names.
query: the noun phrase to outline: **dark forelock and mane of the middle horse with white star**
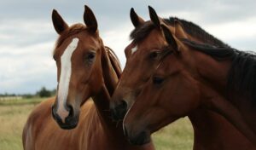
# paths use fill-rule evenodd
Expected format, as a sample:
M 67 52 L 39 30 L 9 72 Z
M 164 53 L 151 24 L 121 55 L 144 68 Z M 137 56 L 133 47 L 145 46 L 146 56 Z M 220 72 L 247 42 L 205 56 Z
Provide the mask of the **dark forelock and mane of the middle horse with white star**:
M 183 28 L 185 32 L 187 32 L 190 36 L 194 38 L 198 38 L 201 40 L 202 43 L 209 43 L 216 46 L 222 46 L 222 47 L 230 47 L 228 44 L 223 43 L 218 38 L 214 38 L 211 34 L 206 32 L 204 29 L 202 29 L 200 26 L 195 25 L 195 23 L 182 20 L 177 17 L 170 17 L 169 19 L 163 19 L 163 21 L 168 26 L 174 26 L 174 21 L 179 20 L 183 24 Z M 135 28 L 130 35 L 130 38 L 134 40 L 134 42 L 139 43 L 144 38 L 148 36 L 148 34 L 156 28 L 154 24 L 151 21 L 146 21 L 142 26 L 138 26 Z

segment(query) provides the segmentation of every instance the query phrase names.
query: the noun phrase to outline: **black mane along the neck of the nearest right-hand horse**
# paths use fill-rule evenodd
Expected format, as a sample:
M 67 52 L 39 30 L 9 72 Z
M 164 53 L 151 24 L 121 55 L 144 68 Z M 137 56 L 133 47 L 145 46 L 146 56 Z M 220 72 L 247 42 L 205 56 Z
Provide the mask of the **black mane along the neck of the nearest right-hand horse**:
M 182 39 L 189 47 L 212 56 L 217 61 L 231 61 L 228 73 L 228 95 L 237 93 L 246 96 L 256 105 L 256 54 L 227 47 L 216 47 L 209 44 L 195 43 Z

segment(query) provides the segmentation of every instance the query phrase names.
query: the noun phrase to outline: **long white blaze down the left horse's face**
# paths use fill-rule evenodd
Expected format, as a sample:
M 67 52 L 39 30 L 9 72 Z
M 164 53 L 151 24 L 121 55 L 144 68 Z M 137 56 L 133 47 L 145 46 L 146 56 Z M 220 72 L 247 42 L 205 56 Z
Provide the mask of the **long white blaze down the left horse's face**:
M 64 107 L 67 101 L 68 87 L 72 72 L 71 57 L 75 49 L 77 49 L 79 38 L 73 38 L 72 42 L 69 43 L 67 49 L 61 55 L 61 78 L 58 89 L 58 107 L 57 114 L 61 117 L 63 123 L 65 118 L 68 116 L 68 112 Z

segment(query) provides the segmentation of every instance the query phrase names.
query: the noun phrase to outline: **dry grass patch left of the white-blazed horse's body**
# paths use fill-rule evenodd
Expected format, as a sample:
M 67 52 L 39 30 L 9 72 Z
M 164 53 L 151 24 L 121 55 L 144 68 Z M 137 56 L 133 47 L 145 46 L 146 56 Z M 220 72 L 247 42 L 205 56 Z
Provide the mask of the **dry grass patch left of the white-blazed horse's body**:
M 0 150 L 21 150 L 26 118 L 43 99 L 0 101 Z

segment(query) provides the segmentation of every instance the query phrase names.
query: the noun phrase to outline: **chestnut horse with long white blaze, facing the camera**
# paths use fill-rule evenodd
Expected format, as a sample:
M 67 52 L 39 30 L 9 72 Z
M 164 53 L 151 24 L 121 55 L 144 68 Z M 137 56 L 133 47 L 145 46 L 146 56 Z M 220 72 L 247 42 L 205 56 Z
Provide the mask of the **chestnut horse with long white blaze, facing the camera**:
M 57 95 L 43 101 L 30 114 L 23 130 L 23 147 L 26 150 L 154 149 L 152 143 L 131 145 L 121 124 L 117 126 L 110 118 L 110 95 L 121 69 L 118 58 L 99 36 L 95 15 L 88 6 L 84 9 L 86 26 L 68 26 L 53 10 L 53 25 L 60 35 L 53 56 L 57 66 Z

